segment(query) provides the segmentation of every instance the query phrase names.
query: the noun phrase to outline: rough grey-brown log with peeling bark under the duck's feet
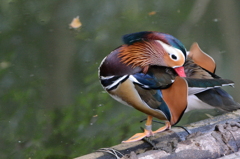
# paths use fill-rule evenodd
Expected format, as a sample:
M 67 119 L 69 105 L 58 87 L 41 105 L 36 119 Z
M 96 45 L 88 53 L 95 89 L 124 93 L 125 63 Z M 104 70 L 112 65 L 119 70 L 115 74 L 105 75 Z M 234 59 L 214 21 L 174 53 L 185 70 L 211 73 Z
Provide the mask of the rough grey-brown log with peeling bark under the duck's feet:
M 159 133 L 149 142 L 119 144 L 104 152 L 76 159 L 204 159 L 238 156 L 240 148 L 240 110 Z M 121 154 L 120 154 L 120 153 Z M 235 154 L 235 155 L 234 155 Z

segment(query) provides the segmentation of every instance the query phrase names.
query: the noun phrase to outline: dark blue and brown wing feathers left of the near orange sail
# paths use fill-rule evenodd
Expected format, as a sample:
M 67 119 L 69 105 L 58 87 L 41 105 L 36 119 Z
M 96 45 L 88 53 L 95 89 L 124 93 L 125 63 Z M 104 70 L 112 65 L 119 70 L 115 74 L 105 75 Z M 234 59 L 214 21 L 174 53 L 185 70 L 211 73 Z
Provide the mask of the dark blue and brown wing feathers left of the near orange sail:
M 168 73 L 166 73 L 168 72 Z M 171 74 L 169 68 L 151 66 L 146 74 L 136 73 L 130 75 L 130 79 L 136 89 L 149 107 L 162 111 L 166 118 L 171 120 L 168 105 L 163 100 L 161 89 L 166 89 L 174 82 L 175 75 Z

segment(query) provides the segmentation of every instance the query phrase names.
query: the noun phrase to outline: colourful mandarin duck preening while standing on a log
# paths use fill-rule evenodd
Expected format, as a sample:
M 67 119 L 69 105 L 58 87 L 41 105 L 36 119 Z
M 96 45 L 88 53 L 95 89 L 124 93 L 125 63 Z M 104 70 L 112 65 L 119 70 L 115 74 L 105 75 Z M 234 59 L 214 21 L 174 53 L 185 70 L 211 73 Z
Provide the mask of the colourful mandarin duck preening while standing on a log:
M 175 37 L 151 31 L 127 34 L 123 42 L 101 62 L 101 85 L 115 100 L 148 116 L 144 132 L 123 142 L 138 141 L 170 129 L 186 110 L 209 108 L 212 105 L 209 93 L 213 94 L 210 98 L 219 101 L 213 104 L 216 107 L 220 101 L 236 104 L 219 88 L 233 82 L 214 74 L 214 60 L 197 44 L 187 52 Z M 152 131 L 153 117 L 165 121 L 165 125 Z

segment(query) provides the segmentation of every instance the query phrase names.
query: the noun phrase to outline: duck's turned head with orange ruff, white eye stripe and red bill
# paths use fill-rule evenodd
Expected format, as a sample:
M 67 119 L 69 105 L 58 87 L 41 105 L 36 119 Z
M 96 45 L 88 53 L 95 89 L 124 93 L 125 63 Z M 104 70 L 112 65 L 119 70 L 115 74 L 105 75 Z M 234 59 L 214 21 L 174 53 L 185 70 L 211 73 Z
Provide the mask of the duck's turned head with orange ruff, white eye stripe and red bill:
M 118 54 L 121 62 L 132 67 L 141 67 L 146 73 L 149 66 L 172 67 L 184 77 L 183 64 L 186 49 L 175 37 L 159 32 L 138 32 L 123 37 L 124 45 Z

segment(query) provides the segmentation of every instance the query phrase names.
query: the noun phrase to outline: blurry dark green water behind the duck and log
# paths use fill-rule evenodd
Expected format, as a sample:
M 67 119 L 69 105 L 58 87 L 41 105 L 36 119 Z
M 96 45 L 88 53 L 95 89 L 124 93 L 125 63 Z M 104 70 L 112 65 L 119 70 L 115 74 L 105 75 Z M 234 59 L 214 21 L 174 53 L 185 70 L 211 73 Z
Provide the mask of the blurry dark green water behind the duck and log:
M 82 27 L 69 29 L 76 16 Z M 198 42 L 240 101 L 239 17 L 239 0 L 1 0 L 0 158 L 78 157 L 139 132 L 146 115 L 114 101 L 97 76 L 127 33 Z

